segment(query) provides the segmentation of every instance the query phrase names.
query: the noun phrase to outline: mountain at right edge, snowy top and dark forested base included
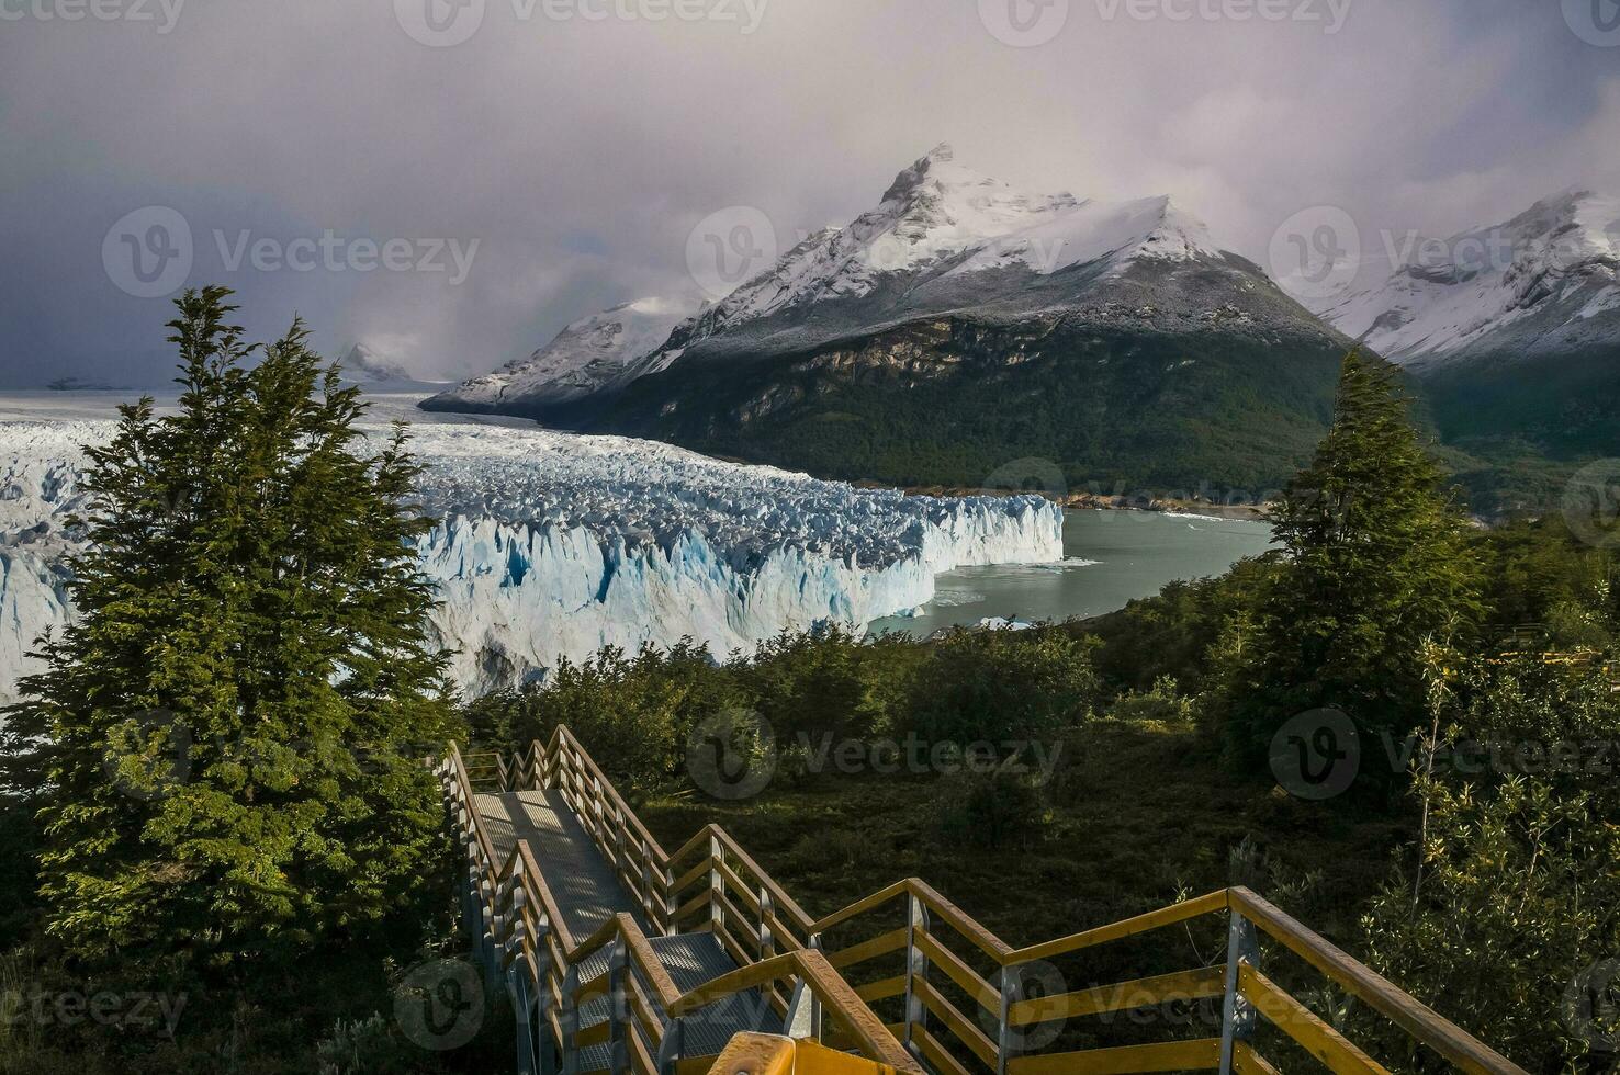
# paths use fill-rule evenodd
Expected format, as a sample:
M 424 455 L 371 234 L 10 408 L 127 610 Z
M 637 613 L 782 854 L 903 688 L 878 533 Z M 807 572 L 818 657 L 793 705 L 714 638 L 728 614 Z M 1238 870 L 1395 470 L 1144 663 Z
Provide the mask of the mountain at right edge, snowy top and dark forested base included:
M 1413 371 L 1477 510 L 1557 510 L 1620 455 L 1620 199 L 1570 189 L 1442 248 L 1325 316 Z

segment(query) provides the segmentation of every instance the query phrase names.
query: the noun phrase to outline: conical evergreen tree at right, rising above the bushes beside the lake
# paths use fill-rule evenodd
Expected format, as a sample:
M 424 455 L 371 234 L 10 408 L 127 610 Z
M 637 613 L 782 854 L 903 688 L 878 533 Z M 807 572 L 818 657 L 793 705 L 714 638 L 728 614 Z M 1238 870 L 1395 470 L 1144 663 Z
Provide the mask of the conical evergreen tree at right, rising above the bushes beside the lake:
M 1272 513 L 1283 565 L 1225 686 L 1247 763 L 1267 756 L 1281 724 L 1320 707 L 1405 737 L 1422 724 L 1424 644 L 1466 635 L 1481 615 L 1466 523 L 1396 377 L 1382 359 L 1345 358 L 1333 424 Z

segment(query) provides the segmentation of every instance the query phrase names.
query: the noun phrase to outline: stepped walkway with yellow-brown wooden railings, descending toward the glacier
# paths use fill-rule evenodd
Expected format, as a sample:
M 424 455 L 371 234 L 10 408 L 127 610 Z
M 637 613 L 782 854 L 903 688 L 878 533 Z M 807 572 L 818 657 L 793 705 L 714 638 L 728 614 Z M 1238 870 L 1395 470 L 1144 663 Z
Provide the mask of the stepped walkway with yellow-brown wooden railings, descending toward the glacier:
M 1387 1072 L 1260 971 L 1262 941 L 1268 967 L 1409 1039 L 1406 1065 L 1524 1075 L 1249 889 L 1014 949 L 915 877 L 813 920 L 719 826 L 671 855 L 567 729 L 515 756 L 452 743 L 437 772 L 467 850 L 463 918 L 488 986 L 512 997 L 525 1075 L 700 1075 L 748 1043 L 735 1056 L 763 1059 L 721 1075 L 791 1075 L 799 1054 L 758 1035 L 816 1043 L 807 1073 Z M 1064 984 L 1089 981 L 1098 945 L 1210 916 L 1225 963 Z M 1069 1025 L 1199 1002 L 1218 1036 L 1163 1020 L 1165 1041 L 1055 1051 Z

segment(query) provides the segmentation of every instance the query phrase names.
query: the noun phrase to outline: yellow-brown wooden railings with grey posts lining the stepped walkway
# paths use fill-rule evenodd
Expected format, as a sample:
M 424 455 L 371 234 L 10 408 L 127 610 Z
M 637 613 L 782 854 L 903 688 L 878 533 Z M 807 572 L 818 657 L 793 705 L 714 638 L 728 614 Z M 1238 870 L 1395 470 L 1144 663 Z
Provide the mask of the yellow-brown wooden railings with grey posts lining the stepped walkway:
M 454 750 L 447 767 L 465 777 L 467 769 Z M 1405 1035 L 1429 1056 L 1430 1067 L 1434 1059 L 1442 1059 L 1456 1070 L 1471 1073 L 1524 1075 L 1523 1069 L 1244 887 L 1210 892 L 1136 918 L 1019 949 L 1001 941 L 917 877 L 891 884 L 815 920 L 719 826 L 706 826 L 674 855 L 667 855 L 567 729 L 557 729 L 546 745 L 536 741 L 514 759 L 497 758 L 480 771 L 492 774 L 501 790 L 561 790 L 598 848 L 614 865 L 627 892 L 645 908 L 646 921 L 654 929 L 664 934 L 710 931 L 742 965 L 742 971 L 716 979 L 711 986 L 731 992 L 763 988 L 778 1012 L 791 1013 L 795 991 L 804 992 L 799 986 L 815 983 L 823 1005 L 839 1013 L 838 1025 L 826 1030 L 825 1039 L 834 1046 L 859 1049 L 883 1064 L 904 1069 L 907 1064 L 915 1065 L 910 1057 L 917 1057 L 944 1075 L 1277 1072 L 1273 1062 L 1259 1052 L 1257 1031 L 1264 1022 L 1332 1072 L 1385 1072 L 1379 1060 L 1349 1041 L 1340 1028 L 1322 1020 L 1260 970 L 1260 936 L 1265 936 L 1301 960 L 1302 967 L 1296 970 L 1304 976 L 1324 986 L 1336 986 L 1367 1005 L 1387 1028 Z M 470 780 L 465 788 L 470 801 Z M 476 818 L 476 809 L 468 816 Z M 488 847 L 478 840 L 468 840 L 468 847 L 470 861 L 492 860 Z M 561 924 L 531 863 L 515 871 L 517 881 L 475 865 L 473 871 L 480 869 L 483 873 L 476 890 L 491 894 L 489 913 L 497 921 L 504 921 L 502 915 L 510 915 L 510 910 L 502 910 L 509 903 L 501 902 L 505 884 L 507 892 L 522 886 L 526 905 L 544 905 L 549 921 Z M 625 958 L 632 958 L 630 949 L 638 931 L 630 934 L 635 923 L 629 916 L 622 918 L 625 921 L 616 929 L 625 945 Z M 1110 986 L 1040 994 L 1048 981 L 1061 981 L 1061 975 L 1050 973 L 1053 960 L 1170 928 L 1186 928 L 1196 920 L 1220 918 L 1225 918 L 1218 924 L 1226 933 L 1223 963 L 1171 970 Z M 535 929 L 544 929 L 546 924 L 536 918 L 528 926 L 525 920 L 525 928 L 531 937 Z M 828 945 L 828 937 L 834 934 L 839 944 Z M 499 947 L 496 937 L 499 934 L 492 934 L 489 944 Z M 562 947 L 570 945 L 564 942 Z M 580 952 L 588 947 L 580 945 Z M 556 952 L 552 965 L 559 958 L 567 967 L 578 954 Z M 646 975 L 640 967 L 638 970 Z M 841 988 L 834 988 L 834 981 Z M 663 1004 L 667 1025 L 671 1010 L 700 1005 L 706 989 L 708 986 L 674 1001 L 666 996 L 648 997 L 648 1002 L 656 999 Z M 536 992 L 541 992 L 539 986 Z M 567 989 L 548 988 L 544 996 L 564 1004 Z M 838 1002 L 833 1004 L 829 997 Z M 1051 1051 L 1059 1041 L 1058 1030 L 1068 1020 L 1113 1017 L 1153 1007 L 1168 1010 L 1170 1005 L 1199 1001 L 1220 1002 L 1218 1025 L 1212 1028 L 1218 1028 L 1218 1033 Z M 897 1020 L 883 1025 L 872 1015 L 870 1005 L 875 1004 L 897 1007 Z M 648 1007 L 653 1009 L 651 1004 Z M 638 1025 L 656 1026 L 658 1020 L 640 1020 Z M 552 1030 L 559 1041 L 567 1039 L 564 1026 Z M 888 1033 L 880 1036 L 878 1030 Z M 897 1059 L 891 1056 L 889 1046 L 896 1038 L 904 1043 Z M 642 1052 L 658 1057 L 659 1049 L 654 1046 L 663 1041 L 648 1031 L 632 1059 L 640 1064 Z

